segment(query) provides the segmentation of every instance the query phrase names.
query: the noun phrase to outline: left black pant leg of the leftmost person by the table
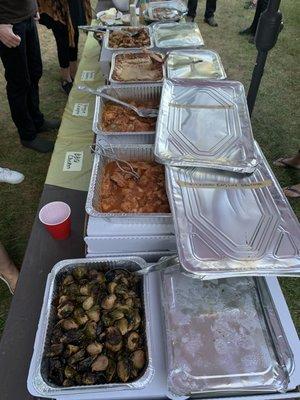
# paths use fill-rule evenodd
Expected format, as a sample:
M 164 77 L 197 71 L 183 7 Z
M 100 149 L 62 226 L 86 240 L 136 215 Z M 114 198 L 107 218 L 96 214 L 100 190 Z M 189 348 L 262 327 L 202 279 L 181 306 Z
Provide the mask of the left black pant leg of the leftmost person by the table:
M 27 22 L 23 21 L 14 25 L 15 34 L 21 38 L 19 46 L 8 48 L 0 43 L 0 55 L 7 82 L 7 98 L 11 116 L 21 140 L 33 140 L 36 137 L 36 127 L 28 106 L 28 93 L 31 83 L 26 54 Z

